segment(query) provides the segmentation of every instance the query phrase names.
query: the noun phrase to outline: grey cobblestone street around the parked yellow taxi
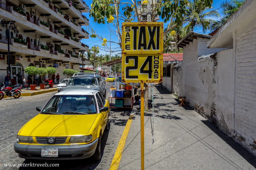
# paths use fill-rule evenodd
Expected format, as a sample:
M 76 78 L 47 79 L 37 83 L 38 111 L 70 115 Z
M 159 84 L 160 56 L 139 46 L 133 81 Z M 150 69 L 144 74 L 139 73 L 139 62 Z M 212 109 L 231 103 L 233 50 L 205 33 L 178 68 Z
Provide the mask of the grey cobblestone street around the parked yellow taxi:
M 107 96 L 112 83 L 106 83 Z M 19 129 L 39 112 L 36 107 L 43 107 L 56 92 L 24 96 L 18 99 L 2 99 L 0 106 L 0 169 L 18 169 L 17 167 L 4 167 L 6 163 L 58 163 L 61 169 L 109 169 L 118 142 L 124 130 L 124 126 L 130 115 L 130 109 L 112 109 L 109 117 L 109 130 L 103 133 L 101 138 L 101 160 L 94 162 L 91 158 L 70 161 L 40 161 L 24 160 L 14 152 L 14 143 Z M 36 169 L 35 167 L 20 167 L 19 169 Z M 48 168 L 51 169 L 51 168 Z M 56 168 L 52 168 L 56 169 Z

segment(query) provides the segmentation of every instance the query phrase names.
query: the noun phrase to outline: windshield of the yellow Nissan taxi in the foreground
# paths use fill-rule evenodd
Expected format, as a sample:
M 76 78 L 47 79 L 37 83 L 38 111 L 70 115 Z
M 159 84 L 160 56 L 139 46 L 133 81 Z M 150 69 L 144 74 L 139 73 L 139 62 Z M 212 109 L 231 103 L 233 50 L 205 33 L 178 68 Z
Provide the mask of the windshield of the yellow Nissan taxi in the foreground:
M 96 114 L 93 95 L 54 95 L 42 109 L 42 114 Z

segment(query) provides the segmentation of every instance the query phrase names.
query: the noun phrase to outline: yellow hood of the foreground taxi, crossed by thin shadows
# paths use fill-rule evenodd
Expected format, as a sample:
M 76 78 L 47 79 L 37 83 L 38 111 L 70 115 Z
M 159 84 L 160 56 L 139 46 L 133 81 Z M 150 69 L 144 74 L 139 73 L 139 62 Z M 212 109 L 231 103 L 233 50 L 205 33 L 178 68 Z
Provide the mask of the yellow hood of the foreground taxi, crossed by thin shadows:
M 88 135 L 97 114 L 38 114 L 18 132 L 21 136 L 84 136 Z

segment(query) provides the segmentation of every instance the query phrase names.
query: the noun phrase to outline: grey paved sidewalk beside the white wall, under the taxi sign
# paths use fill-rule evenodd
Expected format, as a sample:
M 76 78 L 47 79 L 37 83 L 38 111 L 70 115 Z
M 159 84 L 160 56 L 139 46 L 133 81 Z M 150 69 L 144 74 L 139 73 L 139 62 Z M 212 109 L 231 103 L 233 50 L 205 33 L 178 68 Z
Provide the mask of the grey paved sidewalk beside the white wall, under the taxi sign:
M 255 169 L 253 155 L 191 107 L 179 106 L 165 89 L 154 87 L 153 93 L 154 124 L 152 111 L 144 112 L 145 169 Z M 138 108 L 133 108 L 118 169 L 141 169 Z

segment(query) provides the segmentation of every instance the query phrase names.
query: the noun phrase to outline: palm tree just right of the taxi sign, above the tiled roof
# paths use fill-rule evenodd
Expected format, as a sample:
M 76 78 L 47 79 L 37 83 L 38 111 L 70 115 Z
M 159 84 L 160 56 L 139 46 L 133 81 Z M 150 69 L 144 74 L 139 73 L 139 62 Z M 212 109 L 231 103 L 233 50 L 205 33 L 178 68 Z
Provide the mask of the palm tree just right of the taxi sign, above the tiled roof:
M 212 7 L 211 7 L 212 8 Z M 184 18 L 185 23 L 188 23 L 183 27 L 182 36 L 184 37 L 189 31 L 193 31 L 195 27 L 201 27 L 202 31 L 205 33 L 209 29 L 209 25 L 215 22 L 215 20 L 207 17 L 219 17 L 219 13 L 216 9 L 210 10 L 207 8 L 202 8 L 198 0 L 189 0 L 186 9 L 186 15 Z M 208 11 L 208 12 L 206 12 Z

